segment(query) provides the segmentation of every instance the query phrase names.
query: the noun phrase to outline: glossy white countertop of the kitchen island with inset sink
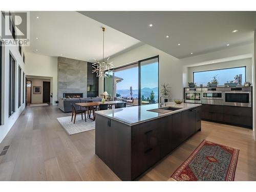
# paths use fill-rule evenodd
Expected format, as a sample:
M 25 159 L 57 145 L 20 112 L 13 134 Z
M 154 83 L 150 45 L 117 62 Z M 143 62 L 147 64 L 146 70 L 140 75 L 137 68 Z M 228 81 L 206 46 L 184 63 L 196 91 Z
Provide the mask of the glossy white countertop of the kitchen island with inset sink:
M 141 105 L 141 106 L 132 106 L 132 107 L 121 108 L 121 109 L 96 111 L 95 113 L 131 126 L 131 125 L 139 124 L 149 120 L 164 117 L 170 114 L 185 111 L 191 108 L 195 108 L 200 105 L 201 104 L 194 104 L 194 103 L 176 104 L 175 102 L 166 102 L 162 105 L 162 108 L 166 106 L 172 106 L 174 108 L 181 108 L 181 109 L 170 111 L 168 113 L 156 113 L 156 112 L 147 111 L 147 110 L 160 108 L 160 104 L 157 103 L 157 104 L 147 104 L 147 105 Z M 97 121 L 97 118 L 96 118 L 96 121 Z

